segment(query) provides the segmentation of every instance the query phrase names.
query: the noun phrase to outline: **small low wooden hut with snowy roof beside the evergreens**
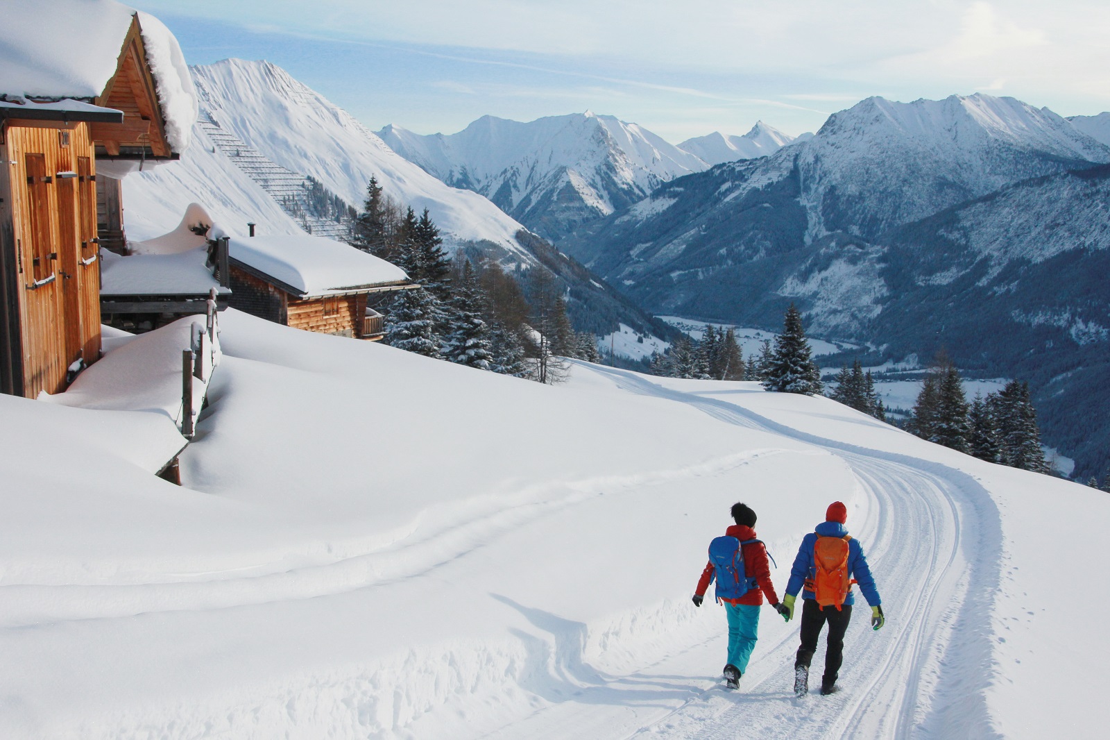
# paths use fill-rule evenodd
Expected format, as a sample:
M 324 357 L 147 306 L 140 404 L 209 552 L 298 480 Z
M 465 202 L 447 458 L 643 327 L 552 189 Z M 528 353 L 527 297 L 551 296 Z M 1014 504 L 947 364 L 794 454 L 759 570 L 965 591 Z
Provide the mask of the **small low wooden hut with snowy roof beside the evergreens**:
M 370 296 L 410 287 L 401 268 L 332 239 L 230 237 L 228 244 L 229 304 L 296 329 L 381 339 Z

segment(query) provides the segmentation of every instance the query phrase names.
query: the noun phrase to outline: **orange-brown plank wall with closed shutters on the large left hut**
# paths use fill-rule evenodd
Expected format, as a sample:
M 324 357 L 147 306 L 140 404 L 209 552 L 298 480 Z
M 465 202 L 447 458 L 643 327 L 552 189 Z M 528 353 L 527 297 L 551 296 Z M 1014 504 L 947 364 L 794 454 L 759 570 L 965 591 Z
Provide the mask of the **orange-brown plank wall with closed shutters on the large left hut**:
M 87 123 L 11 120 L 3 139 L 14 241 L 7 273 L 20 318 L 22 388 L 13 390 L 34 398 L 64 390 L 74 360 L 100 356 L 93 147 Z

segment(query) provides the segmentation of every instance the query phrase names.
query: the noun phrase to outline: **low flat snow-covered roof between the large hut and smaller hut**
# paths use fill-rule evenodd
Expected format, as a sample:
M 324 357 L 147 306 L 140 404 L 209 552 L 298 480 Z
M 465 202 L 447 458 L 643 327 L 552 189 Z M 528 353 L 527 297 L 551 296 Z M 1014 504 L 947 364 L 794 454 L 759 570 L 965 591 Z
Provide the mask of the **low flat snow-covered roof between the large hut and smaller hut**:
M 205 266 L 208 250 L 198 247 L 171 254 L 120 257 L 101 252 L 101 296 L 205 296 L 221 288 Z

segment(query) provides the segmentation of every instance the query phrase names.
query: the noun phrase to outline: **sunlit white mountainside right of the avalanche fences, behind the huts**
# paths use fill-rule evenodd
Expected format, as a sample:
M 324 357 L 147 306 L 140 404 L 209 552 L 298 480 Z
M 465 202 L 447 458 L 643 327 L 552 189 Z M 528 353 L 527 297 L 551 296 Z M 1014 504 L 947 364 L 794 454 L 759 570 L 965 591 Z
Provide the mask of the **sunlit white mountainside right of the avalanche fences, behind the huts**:
M 270 160 L 314 177 L 362 206 L 375 176 L 386 193 L 432 219 L 452 244 L 490 240 L 523 253 L 519 223 L 485 198 L 446 187 L 394 153 L 346 111 L 265 61 L 228 59 L 191 68 L 201 107 Z M 213 214 L 215 216 L 215 214 Z

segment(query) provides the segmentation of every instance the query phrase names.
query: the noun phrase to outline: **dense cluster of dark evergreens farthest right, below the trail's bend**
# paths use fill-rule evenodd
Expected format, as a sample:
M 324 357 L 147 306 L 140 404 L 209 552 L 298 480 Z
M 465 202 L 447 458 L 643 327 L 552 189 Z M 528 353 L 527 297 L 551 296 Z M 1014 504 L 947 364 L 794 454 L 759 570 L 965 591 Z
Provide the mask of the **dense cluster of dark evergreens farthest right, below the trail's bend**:
M 944 354 L 925 378 L 908 429 L 980 460 L 1050 472 L 1029 383 L 1011 380 L 1002 390 L 986 398 L 978 393 L 968 403 L 960 372 Z

